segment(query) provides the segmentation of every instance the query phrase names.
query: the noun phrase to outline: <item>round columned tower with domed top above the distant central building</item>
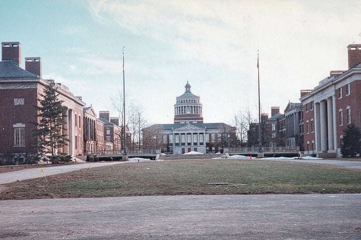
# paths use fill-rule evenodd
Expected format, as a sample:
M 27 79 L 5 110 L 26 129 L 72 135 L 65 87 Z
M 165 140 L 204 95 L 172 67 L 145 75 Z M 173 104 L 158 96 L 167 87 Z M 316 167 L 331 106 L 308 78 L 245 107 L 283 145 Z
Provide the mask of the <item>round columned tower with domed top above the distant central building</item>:
M 185 88 L 185 93 L 176 97 L 174 123 L 203 123 L 201 98 L 191 92 L 188 81 Z

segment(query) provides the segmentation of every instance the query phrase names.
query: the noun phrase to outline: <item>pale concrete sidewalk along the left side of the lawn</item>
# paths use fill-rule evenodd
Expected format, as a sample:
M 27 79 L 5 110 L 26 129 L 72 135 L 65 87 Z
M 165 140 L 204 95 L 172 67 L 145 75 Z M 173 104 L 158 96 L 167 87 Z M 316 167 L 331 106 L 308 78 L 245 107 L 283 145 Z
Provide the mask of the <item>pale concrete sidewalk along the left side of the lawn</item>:
M 71 172 L 79 169 L 85 169 L 91 167 L 101 167 L 101 166 L 110 166 L 114 164 L 119 164 L 123 162 L 92 162 L 92 163 L 79 163 L 79 164 L 70 164 L 70 165 L 61 165 L 61 166 L 41 166 L 39 168 L 31 168 L 20 171 L 6 172 L 0 174 L 0 184 L 10 183 L 21 181 L 25 179 L 45 177 L 49 175 L 54 175 L 58 173 Z M 40 169 L 43 168 L 43 171 Z

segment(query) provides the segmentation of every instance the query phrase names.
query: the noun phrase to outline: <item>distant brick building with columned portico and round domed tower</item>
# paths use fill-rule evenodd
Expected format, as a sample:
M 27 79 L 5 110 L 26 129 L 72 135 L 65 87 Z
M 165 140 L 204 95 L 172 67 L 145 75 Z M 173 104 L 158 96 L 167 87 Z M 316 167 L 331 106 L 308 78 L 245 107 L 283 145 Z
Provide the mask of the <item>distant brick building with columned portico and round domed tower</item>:
M 166 154 L 217 153 L 236 142 L 236 128 L 225 123 L 204 123 L 201 98 L 191 92 L 176 97 L 173 124 L 154 124 L 143 129 L 143 147 Z

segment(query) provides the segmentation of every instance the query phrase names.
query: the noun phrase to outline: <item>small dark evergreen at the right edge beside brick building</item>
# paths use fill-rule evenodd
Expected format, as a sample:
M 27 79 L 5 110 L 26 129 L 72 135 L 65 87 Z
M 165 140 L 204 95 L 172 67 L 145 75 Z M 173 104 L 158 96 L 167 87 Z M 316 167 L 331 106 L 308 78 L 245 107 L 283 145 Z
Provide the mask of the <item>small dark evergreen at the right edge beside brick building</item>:
M 361 130 L 353 123 L 347 124 L 343 129 L 341 146 L 342 157 L 354 157 L 361 154 Z

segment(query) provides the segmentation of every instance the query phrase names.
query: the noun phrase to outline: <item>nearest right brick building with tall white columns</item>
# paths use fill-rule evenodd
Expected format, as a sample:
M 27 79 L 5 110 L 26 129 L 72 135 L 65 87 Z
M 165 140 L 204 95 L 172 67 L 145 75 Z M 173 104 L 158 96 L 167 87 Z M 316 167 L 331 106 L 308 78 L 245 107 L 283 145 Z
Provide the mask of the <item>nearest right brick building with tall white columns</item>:
M 348 45 L 347 51 L 348 70 L 330 71 L 300 98 L 305 154 L 341 157 L 343 129 L 351 122 L 361 124 L 361 45 Z

